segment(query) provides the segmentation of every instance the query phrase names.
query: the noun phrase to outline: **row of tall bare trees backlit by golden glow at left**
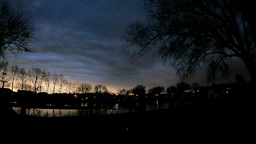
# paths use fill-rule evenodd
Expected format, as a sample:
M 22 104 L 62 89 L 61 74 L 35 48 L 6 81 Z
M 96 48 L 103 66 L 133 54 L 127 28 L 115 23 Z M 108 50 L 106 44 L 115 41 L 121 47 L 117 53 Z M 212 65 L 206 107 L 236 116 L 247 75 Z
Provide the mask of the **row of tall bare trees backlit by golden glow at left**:
M 26 70 L 17 65 L 8 67 L 7 61 L 1 62 L 2 81 L 7 81 L 5 87 L 12 91 L 26 90 L 34 93 L 90 93 L 107 92 L 105 85 L 86 84 L 82 82 L 69 82 L 63 74 L 51 73 L 41 68 Z

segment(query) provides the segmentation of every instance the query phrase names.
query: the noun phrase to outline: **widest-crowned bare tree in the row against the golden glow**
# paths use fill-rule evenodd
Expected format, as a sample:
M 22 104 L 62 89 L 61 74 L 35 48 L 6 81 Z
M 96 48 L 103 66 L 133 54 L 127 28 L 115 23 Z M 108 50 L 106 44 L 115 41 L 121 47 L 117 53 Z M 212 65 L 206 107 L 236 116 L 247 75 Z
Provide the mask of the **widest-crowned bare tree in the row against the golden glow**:
M 39 68 L 32 68 L 28 72 L 30 82 L 33 84 L 33 91 L 37 93 L 43 81 L 43 70 Z

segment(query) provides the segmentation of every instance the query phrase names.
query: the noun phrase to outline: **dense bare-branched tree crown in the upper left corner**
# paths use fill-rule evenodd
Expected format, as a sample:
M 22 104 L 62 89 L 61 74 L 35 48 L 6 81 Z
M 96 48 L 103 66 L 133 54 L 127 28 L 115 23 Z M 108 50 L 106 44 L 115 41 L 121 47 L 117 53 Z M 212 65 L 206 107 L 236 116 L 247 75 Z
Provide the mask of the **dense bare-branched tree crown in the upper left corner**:
M 32 52 L 30 42 L 34 39 L 34 23 L 29 12 L 17 1 L 0 1 L 0 57 L 5 52 L 14 54 Z

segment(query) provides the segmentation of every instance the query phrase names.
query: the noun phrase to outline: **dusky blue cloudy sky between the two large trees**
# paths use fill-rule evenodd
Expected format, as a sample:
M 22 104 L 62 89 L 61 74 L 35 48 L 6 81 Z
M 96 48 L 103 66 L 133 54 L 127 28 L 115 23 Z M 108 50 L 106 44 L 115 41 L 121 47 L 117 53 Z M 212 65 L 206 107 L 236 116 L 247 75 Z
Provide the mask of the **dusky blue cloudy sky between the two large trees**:
M 179 77 L 154 51 L 137 60 L 124 53 L 122 33 L 147 13 L 140 0 L 22 0 L 30 11 L 38 39 L 33 53 L 7 55 L 9 65 L 37 67 L 63 74 L 70 82 L 105 85 L 109 91 L 146 89 L 179 83 Z M 236 65 L 243 63 L 236 60 Z M 242 68 L 244 69 L 244 67 Z M 244 73 L 235 68 L 236 73 Z M 188 83 L 207 85 L 204 70 Z

